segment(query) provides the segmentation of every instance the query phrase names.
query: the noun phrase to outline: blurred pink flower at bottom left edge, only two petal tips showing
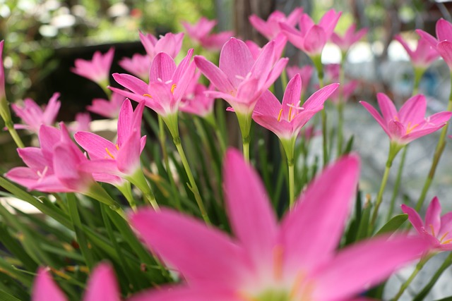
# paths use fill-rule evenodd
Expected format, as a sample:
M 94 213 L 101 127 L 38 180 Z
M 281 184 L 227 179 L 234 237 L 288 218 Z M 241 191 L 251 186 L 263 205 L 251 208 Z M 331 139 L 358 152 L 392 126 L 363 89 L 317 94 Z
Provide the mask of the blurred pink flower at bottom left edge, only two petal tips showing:
M 40 268 L 32 288 L 32 301 L 66 301 L 68 300 L 57 283 L 52 279 L 49 270 Z M 90 276 L 83 301 L 119 301 L 121 293 L 109 264 L 98 264 Z

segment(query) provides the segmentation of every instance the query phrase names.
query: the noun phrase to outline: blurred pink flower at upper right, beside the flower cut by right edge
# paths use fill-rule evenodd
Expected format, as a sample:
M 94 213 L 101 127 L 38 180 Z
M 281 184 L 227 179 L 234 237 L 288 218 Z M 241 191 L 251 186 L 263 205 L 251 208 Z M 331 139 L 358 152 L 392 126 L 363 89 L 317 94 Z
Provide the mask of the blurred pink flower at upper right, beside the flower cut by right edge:
M 432 45 L 423 37 L 417 42 L 417 47 L 414 51 L 408 46 L 407 42 L 403 40 L 401 35 L 396 35 L 394 39 L 405 48 L 408 56 L 410 56 L 411 63 L 415 68 L 427 69 L 430 64 L 439 57 L 438 51 L 432 48 Z

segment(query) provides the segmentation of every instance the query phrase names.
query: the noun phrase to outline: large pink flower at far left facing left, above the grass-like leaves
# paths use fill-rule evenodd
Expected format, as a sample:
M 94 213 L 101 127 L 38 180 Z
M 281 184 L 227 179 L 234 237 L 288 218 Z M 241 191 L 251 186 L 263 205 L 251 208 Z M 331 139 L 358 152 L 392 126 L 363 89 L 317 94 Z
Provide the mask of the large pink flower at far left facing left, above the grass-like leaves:
M 41 125 L 40 148 L 18 149 L 28 167 L 15 167 L 6 173 L 6 178 L 29 190 L 88 194 L 95 181 L 90 173 L 80 169 L 88 159 L 73 143 L 64 123 L 60 127 L 61 130 Z

